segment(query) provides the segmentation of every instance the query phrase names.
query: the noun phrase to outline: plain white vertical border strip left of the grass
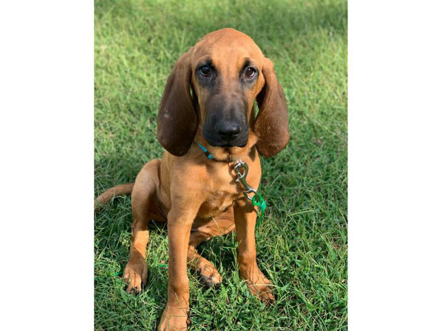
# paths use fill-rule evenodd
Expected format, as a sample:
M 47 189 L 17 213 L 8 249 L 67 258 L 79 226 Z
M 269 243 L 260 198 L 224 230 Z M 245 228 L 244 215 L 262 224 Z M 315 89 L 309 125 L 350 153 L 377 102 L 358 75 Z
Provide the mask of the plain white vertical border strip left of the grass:
M 93 10 L 0 5 L 1 330 L 93 330 Z

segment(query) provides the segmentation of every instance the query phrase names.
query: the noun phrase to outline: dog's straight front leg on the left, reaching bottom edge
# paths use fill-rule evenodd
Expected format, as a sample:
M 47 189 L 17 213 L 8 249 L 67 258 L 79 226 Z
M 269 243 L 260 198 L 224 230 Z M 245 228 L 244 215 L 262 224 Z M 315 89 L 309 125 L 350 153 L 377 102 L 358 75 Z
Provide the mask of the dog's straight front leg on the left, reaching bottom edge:
M 167 304 L 158 330 L 186 330 L 189 324 L 189 278 L 187 277 L 187 249 L 191 226 L 198 212 L 197 206 L 182 204 L 172 208 L 167 216 L 169 237 L 169 287 Z

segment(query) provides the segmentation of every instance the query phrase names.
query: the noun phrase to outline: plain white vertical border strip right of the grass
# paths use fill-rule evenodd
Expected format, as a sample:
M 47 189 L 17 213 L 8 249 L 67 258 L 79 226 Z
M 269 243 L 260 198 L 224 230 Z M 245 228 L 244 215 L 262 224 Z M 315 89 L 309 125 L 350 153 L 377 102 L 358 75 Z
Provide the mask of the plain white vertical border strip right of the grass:
M 349 330 L 441 330 L 441 9 L 349 3 Z

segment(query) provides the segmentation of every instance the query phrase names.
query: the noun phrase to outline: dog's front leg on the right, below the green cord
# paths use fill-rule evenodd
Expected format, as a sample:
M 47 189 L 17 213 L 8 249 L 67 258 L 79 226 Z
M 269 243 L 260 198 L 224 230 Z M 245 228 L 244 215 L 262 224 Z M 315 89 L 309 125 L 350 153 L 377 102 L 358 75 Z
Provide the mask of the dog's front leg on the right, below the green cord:
M 256 263 L 255 224 L 256 209 L 246 199 L 240 199 L 235 207 L 236 239 L 238 240 L 238 264 L 241 277 L 247 281 L 251 294 L 261 301 L 274 301 L 273 285 L 262 274 Z

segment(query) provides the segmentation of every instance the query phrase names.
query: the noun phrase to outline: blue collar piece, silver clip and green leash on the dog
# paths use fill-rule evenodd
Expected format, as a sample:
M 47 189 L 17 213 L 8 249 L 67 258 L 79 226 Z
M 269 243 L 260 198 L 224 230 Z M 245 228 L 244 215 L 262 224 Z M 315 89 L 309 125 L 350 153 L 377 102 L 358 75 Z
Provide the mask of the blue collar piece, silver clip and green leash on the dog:
M 197 142 L 195 141 L 195 143 Z M 213 159 L 213 155 L 209 153 L 209 150 L 207 150 L 207 148 L 204 148 L 204 146 L 202 146 L 200 143 L 197 143 L 197 145 L 200 146 L 201 150 L 204 152 L 204 155 L 208 159 L 215 161 L 215 159 Z M 264 199 L 262 199 L 262 195 L 260 194 L 260 192 L 258 192 L 254 188 L 251 188 L 249 183 L 247 183 L 247 173 L 249 172 L 249 165 L 247 165 L 247 163 L 244 161 L 238 160 L 236 161 L 235 172 L 237 175 L 235 181 L 237 183 L 240 183 L 242 185 L 242 188 L 244 188 L 242 190 L 242 194 L 244 194 L 244 197 L 246 197 L 251 201 L 252 205 L 258 207 L 258 210 L 260 211 L 258 221 L 256 221 L 255 225 L 256 229 L 258 228 L 258 225 L 260 225 L 262 221 L 262 217 L 264 216 L 265 208 L 267 206 L 265 204 Z M 253 197 L 250 197 L 249 193 L 253 193 Z

